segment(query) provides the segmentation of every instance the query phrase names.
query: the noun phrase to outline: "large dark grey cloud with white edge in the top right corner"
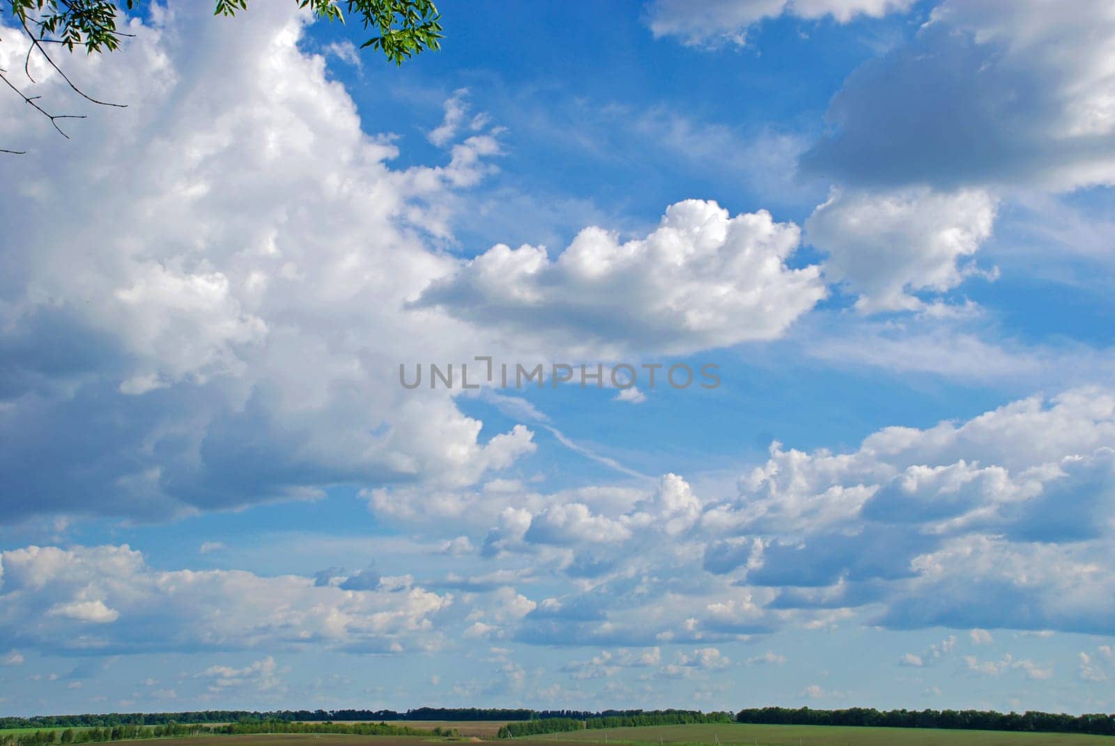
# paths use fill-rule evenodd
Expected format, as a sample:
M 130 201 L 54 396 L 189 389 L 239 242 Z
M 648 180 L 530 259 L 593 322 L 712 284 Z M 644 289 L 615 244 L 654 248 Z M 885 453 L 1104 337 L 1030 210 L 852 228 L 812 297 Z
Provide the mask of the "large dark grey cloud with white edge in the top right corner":
M 1115 176 L 1115 22 L 1102 0 L 949 0 L 912 41 L 853 72 L 806 173 L 865 187 L 1070 188 Z M 1107 50 L 1107 51 L 1105 51 Z

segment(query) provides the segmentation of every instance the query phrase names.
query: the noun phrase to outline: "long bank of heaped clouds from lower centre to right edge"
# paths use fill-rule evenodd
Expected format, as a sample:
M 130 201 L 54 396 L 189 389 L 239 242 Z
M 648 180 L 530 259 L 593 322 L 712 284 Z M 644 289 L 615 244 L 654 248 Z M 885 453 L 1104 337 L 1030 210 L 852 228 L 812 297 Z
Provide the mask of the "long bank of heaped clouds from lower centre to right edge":
M 575 581 L 522 618 L 526 642 L 707 645 L 859 613 L 975 629 L 980 643 L 1002 627 L 1107 633 L 1113 438 L 1115 395 L 1075 389 L 884 428 L 846 453 L 776 443 L 733 500 L 701 498 L 677 475 L 626 492 L 496 483 L 415 503 L 413 520 L 448 510 L 474 532 L 492 526 L 482 556 L 530 563 L 459 588 Z M 957 642 L 906 662 L 932 665 Z

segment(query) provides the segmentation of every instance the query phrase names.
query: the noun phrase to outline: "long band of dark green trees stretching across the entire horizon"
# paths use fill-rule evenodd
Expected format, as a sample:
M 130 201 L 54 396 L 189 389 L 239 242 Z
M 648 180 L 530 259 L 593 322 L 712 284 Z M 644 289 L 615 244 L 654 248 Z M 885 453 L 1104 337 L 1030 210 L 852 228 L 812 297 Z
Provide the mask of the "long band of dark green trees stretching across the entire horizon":
M 1040 733 L 1084 733 L 1115 736 L 1115 715 L 1065 715 L 1054 713 L 996 713 L 991 710 L 878 710 L 853 707 L 850 709 L 811 709 L 808 707 L 763 707 L 729 713 L 700 713 L 698 710 L 533 710 L 493 708 L 419 707 L 405 713 L 395 710 L 202 710 L 195 713 L 113 713 L 107 715 L 50 715 L 39 717 L 0 717 L 0 729 L 39 728 L 41 734 L 9 736 L 13 746 L 33 746 L 51 743 L 85 743 L 123 740 L 155 735 L 187 735 L 211 724 L 233 724 L 222 730 L 236 733 L 284 733 L 298 729 L 294 723 L 389 723 L 407 720 L 496 720 L 505 721 L 506 736 L 532 733 L 556 733 L 581 728 L 608 728 L 636 725 L 668 725 L 682 723 L 754 723 L 764 725 L 831 725 L 878 726 L 893 728 L 958 728 L 976 730 L 1024 730 Z M 149 729 L 144 728 L 147 726 Z M 341 729 L 341 726 L 336 726 Z M 345 726 L 347 732 L 356 726 Z M 75 732 L 68 738 L 59 737 L 56 729 L 97 728 L 96 734 Z M 210 729 L 210 728 L 206 728 Z M 367 729 L 360 727 L 361 730 Z M 392 726 L 391 732 L 403 732 L 405 726 Z M 7 745 L 3 745 L 7 746 Z

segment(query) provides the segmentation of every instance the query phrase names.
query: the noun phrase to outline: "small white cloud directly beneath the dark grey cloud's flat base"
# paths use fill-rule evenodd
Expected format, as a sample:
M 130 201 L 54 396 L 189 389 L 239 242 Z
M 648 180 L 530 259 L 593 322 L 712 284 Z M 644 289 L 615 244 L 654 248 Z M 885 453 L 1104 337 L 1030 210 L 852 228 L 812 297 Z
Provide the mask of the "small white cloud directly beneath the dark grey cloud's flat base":
M 863 311 L 915 310 L 913 293 L 943 292 L 971 273 L 958 262 L 991 235 L 995 200 L 983 191 L 834 191 L 805 224 L 828 252 L 825 278 L 846 283 Z

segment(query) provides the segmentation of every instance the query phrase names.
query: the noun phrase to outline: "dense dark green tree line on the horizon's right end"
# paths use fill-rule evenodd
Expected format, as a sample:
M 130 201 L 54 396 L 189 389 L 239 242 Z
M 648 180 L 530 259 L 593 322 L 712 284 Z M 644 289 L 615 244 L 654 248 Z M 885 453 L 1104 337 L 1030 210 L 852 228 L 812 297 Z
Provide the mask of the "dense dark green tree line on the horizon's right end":
M 1115 715 L 1066 715 L 1055 713 L 996 713 L 993 710 L 878 710 L 760 707 L 743 709 L 736 723 L 764 725 L 851 725 L 889 728 L 958 728 L 964 730 L 1029 730 L 1035 733 L 1087 733 L 1115 736 Z

